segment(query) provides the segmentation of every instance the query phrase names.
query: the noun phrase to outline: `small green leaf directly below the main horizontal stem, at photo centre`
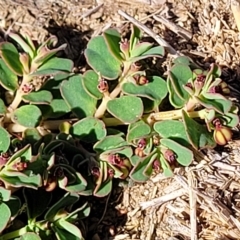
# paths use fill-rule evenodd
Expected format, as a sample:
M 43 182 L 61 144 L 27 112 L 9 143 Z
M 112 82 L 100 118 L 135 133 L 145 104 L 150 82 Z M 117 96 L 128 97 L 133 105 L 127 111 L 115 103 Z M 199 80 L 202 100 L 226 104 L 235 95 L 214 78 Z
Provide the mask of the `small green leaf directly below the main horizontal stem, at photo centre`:
M 145 137 L 151 133 L 151 127 L 145 122 L 141 121 L 141 124 L 137 126 L 131 127 L 132 124 L 129 125 L 127 141 L 132 143 L 133 140 Z

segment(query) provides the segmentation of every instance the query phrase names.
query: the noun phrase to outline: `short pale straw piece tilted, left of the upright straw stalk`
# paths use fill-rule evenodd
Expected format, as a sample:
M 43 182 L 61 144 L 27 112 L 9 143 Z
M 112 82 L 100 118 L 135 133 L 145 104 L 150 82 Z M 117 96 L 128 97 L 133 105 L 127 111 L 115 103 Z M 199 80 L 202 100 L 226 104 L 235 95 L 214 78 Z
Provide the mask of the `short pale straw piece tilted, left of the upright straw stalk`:
M 171 201 L 177 197 L 181 197 L 184 194 L 186 194 L 186 190 L 184 188 L 180 188 L 180 189 L 177 189 L 176 191 L 166 194 L 164 196 L 154 198 L 147 202 L 141 202 L 140 206 L 141 206 L 142 210 L 149 208 L 149 207 L 153 207 L 153 206 L 156 207 L 165 202 Z

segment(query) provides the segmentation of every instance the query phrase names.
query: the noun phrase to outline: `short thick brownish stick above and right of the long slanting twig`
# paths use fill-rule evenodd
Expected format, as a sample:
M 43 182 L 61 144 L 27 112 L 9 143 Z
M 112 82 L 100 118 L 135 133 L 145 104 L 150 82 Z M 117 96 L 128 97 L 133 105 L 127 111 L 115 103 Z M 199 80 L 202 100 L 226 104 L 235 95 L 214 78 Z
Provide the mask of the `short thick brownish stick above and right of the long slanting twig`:
M 175 23 L 171 22 L 170 20 L 168 20 L 168 19 L 166 19 L 162 16 L 156 16 L 156 15 L 153 15 L 153 18 L 156 21 L 164 24 L 166 27 L 168 27 L 170 30 L 172 30 L 176 34 L 178 34 L 180 37 L 182 37 L 186 40 L 192 39 L 192 33 L 191 32 L 189 32 L 188 30 L 176 25 Z

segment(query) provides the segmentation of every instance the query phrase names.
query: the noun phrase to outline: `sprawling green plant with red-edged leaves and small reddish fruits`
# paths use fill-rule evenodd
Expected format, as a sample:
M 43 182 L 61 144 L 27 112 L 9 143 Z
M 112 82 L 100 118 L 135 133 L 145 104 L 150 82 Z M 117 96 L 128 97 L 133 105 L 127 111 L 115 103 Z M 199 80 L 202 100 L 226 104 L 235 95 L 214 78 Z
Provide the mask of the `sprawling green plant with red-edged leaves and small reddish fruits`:
M 90 213 L 81 196 L 107 196 L 114 179 L 171 177 L 193 151 L 225 145 L 238 122 L 221 69 L 187 57 L 165 79 L 146 59 L 161 46 L 115 29 L 92 38 L 90 70 L 57 57 L 56 38 L 40 45 L 9 34 L 0 45 L 0 239 L 84 239 Z M 126 126 L 122 130 L 119 126 Z

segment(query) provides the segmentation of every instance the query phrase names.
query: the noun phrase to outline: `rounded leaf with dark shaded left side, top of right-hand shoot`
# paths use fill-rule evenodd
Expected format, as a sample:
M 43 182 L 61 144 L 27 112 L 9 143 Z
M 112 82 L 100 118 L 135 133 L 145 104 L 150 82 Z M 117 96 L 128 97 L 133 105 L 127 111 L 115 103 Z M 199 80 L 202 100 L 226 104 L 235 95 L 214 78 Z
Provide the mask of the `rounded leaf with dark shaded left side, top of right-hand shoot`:
M 170 69 L 169 79 L 172 83 L 172 86 L 175 89 L 178 97 L 185 101 L 189 99 L 190 95 L 183 88 L 183 86 L 185 86 L 191 78 L 192 71 L 189 66 L 176 64 Z

